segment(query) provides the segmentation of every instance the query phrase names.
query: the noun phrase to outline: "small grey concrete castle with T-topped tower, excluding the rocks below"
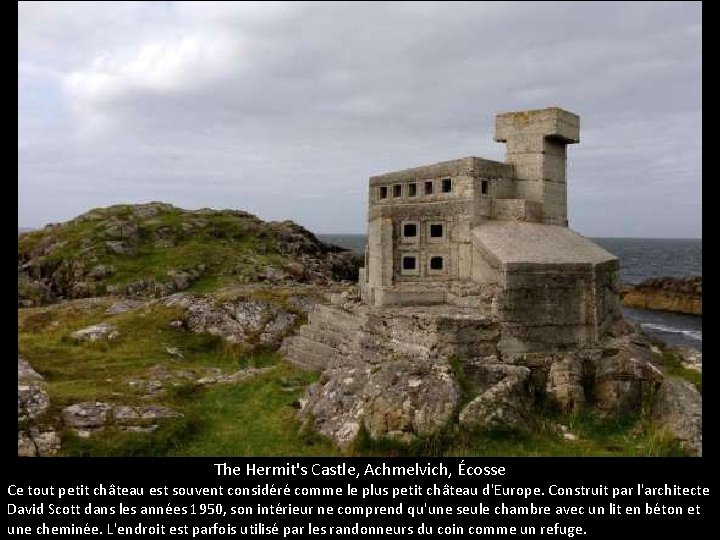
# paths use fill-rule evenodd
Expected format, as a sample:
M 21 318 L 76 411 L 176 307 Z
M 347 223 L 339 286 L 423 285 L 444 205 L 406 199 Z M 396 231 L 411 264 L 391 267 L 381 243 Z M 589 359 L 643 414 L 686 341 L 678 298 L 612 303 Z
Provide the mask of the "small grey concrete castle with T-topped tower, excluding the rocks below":
M 370 178 L 360 273 L 371 306 L 454 304 L 497 315 L 505 349 L 596 342 L 619 315 L 617 259 L 567 228 L 566 149 L 580 119 L 499 114 L 504 163 L 466 157 Z

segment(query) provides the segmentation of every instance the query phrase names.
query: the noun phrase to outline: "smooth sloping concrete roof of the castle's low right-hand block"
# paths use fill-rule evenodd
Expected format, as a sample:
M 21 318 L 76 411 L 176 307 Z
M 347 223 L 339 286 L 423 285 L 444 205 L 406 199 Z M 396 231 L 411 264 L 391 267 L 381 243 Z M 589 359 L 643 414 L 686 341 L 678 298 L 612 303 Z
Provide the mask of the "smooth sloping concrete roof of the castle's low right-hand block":
M 558 225 L 487 221 L 476 240 L 504 264 L 599 264 L 617 259 L 584 236 Z

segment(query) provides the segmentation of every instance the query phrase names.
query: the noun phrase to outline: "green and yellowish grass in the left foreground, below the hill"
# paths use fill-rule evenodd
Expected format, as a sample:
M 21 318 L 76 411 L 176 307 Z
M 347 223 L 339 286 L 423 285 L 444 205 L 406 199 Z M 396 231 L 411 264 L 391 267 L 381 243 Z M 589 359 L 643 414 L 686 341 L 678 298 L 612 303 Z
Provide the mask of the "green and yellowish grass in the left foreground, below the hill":
M 179 308 L 158 305 L 109 316 L 110 300 L 84 301 L 48 308 L 20 310 L 18 349 L 45 377 L 51 400 L 46 422 L 61 425 L 62 409 L 82 401 L 116 405 L 171 407 L 182 418 L 163 421 L 151 433 L 106 428 L 83 438 L 62 433 L 62 455 L 72 456 L 281 456 L 338 455 L 324 437 L 301 429 L 294 402 L 316 373 L 300 371 L 281 361 L 272 350 L 249 354 L 245 348 L 207 334 L 172 328 Z M 120 337 L 113 342 L 76 343 L 69 335 L 98 322 L 115 325 Z M 166 347 L 177 347 L 183 360 L 171 357 Z M 272 369 L 237 384 L 196 387 L 173 386 L 153 396 L 129 381 L 147 380 L 156 365 L 171 372 L 220 368 Z

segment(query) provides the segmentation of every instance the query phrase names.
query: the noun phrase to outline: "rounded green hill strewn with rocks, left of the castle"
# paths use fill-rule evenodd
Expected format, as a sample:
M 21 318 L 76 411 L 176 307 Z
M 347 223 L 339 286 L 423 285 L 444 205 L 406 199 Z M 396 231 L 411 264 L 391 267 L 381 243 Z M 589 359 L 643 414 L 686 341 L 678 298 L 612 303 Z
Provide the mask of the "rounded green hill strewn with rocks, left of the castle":
M 326 285 L 356 256 L 292 221 L 151 202 L 96 208 L 18 236 L 18 306 L 105 295 L 162 297 L 226 285 Z

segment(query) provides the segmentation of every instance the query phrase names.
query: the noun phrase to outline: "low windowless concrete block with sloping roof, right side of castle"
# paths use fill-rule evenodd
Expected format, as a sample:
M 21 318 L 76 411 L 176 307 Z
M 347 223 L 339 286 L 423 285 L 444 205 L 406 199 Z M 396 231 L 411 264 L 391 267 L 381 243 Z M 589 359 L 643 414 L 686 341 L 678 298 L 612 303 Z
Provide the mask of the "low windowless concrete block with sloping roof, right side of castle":
M 617 259 L 566 227 L 492 221 L 473 230 L 478 281 L 494 278 L 507 354 L 596 343 L 619 316 Z

